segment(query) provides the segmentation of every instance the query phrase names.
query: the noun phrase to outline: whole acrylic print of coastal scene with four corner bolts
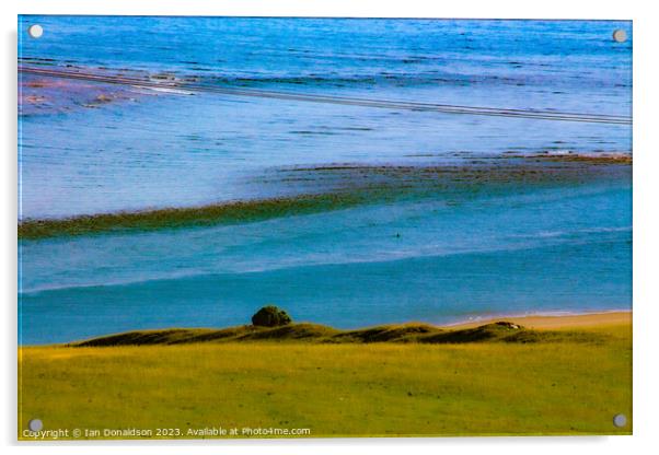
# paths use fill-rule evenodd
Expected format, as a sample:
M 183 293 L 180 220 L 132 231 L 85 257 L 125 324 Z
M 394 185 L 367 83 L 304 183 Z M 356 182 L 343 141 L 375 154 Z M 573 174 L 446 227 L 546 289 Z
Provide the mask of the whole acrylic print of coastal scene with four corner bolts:
M 632 432 L 631 22 L 19 37 L 19 439 Z

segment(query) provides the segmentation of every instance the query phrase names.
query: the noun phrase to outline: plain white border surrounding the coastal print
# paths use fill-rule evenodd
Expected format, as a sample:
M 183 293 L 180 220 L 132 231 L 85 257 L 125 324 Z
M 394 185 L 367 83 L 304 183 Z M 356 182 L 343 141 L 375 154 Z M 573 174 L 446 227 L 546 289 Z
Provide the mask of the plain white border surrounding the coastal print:
M 352 18 L 507 18 L 507 19 L 617 19 L 634 20 L 634 436 L 616 438 L 495 438 L 439 440 L 316 440 L 316 441 L 234 441 L 212 443 L 119 443 L 122 452 L 158 451 L 160 454 L 180 454 L 194 447 L 203 453 L 254 453 L 257 448 L 274 454 L 315 454 L 337 451 L 398 453 L 409 446 L 423 453 L 439 451 L 462 453 L 506 454 L 511 452 L 552 454 L 598 452 L 603 454 L 646 453 L 657 444 L 659 433 L 659 387 L 656 348 L 659 324 L 659 279 L 657 248 L 659 236 L 659 143 L 657 118 L 657 45 L 659 21 L 650 2 L 552 0 L 545 2 L 497 0 L 456 2 L 419 0 L 22 0 L 2 3 L 2 100 L 0 110 L 2 138 L 2 392 L 0 413 L 2 442 L 13 453 L 16 435 L 16 14 L 157 14 L 157 15 L 311 15 Z M 48 446 L 23 444 L 22 452 L 41 450 L 53 454 L 90 452 L 90 446 L 61 443 Z M 112 453 L 117 443 L 93 444 L 94 452 Z M 142 448 L 131 448 L 131 447 Z

